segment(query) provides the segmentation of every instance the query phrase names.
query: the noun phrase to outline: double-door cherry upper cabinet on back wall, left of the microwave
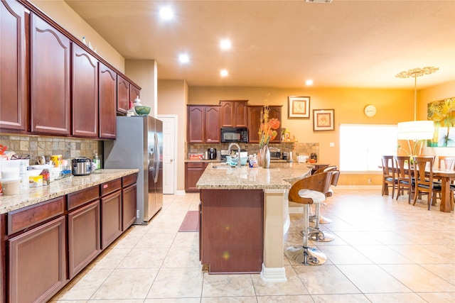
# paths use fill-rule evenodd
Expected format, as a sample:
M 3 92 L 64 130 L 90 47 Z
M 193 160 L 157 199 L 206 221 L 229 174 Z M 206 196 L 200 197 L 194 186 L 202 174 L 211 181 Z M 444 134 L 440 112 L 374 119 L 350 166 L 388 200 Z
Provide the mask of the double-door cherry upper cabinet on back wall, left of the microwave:
M 220 143 L 220 106 L 187 106 L 188 143 Z

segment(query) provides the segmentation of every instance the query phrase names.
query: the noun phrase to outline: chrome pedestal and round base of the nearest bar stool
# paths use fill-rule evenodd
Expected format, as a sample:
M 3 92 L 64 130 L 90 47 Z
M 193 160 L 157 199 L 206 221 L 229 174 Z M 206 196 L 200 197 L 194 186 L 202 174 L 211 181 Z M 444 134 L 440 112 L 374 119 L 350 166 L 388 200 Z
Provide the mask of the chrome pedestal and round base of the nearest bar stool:
M 296 263 L 305 265 L 321 265 L 326 263 L 327 256 L 317 248 L 308 247 L 308 233 L 309 233 L 309 205 L 304 205 L 304 236 L 303 246 L 291 246 L 287 248 L 284 255 Z

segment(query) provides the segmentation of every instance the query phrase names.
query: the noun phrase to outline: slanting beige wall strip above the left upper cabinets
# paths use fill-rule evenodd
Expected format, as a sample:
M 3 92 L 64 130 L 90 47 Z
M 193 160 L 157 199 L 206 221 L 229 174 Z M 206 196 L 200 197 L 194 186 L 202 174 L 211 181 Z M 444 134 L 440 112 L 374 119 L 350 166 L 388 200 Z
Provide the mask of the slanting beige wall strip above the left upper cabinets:
M 87 43 L 90 42 L 93 48 L 97 49 L 98 55 L 117 68 L 119 72 L 124 73 L 124 57 L 77 15 L 65 1 L 30 0 L 30 2 L 79 40 L 82 41 L 82 37 L 85 37 Z

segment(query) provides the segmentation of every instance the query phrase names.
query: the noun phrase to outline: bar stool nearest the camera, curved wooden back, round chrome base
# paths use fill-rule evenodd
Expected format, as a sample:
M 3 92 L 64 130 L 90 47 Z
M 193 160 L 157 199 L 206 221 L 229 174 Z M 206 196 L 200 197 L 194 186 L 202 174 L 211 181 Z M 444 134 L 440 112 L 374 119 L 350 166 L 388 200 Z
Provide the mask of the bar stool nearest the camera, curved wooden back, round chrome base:
M 326 192 L 331 185 L 333 172 L 321 172 L 297 181 L 289 189 L 289 202 L 302 204 L 304 206 L 304 230 L 303 245 L 291 246 L 285 250 L 284 255 L 296 263 L 305 265 L 321 265 L 326 263 L 326 255 L 317 248 L 309 247 L 309 206 L 320 204 L 326 201 Z

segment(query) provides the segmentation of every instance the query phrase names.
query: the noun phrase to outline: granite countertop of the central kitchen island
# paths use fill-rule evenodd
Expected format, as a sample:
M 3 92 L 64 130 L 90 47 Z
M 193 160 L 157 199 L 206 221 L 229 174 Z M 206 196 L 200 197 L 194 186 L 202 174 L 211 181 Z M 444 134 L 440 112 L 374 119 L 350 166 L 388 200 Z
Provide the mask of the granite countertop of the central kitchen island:
M 311 174 L 307 163 L 272 162 L 269 168 L 228 167 L 212 163 L 205 168 L 198 189 L 289 189 L 291 183 Z

